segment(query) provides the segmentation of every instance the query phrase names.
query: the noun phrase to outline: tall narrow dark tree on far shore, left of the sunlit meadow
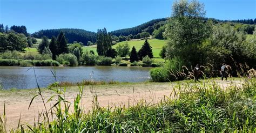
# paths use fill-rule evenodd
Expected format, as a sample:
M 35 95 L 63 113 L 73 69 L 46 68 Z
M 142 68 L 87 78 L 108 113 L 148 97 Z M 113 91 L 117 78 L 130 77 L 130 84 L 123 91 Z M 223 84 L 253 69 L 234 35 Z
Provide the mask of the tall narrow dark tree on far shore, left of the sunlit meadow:
M 106 28 L 98 29 L 97 33 L 97 53 L 98 55 L 106 56 L 106 51 L 112 46 L 112 38 L 107 33 Z

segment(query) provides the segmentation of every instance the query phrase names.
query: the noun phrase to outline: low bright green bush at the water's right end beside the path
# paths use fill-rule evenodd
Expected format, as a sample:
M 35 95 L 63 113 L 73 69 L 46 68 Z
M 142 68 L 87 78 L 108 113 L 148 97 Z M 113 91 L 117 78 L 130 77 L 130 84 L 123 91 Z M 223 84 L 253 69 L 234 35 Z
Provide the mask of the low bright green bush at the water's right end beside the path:
M 169 72 L 166 68 L 153 68 L 150 70 L 150 76 L 153 82 L 168 82 Z

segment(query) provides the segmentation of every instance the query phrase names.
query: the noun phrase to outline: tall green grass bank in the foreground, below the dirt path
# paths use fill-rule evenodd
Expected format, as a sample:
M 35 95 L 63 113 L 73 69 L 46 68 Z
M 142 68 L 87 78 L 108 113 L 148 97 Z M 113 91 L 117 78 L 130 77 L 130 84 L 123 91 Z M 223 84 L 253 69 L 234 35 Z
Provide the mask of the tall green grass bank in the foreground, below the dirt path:
M 207 80 L 204 80 L 207 81 Z M 83 86 L 73 104 L 65 100 L 66 89 L 51 87 L 55 107 L 44 110 L 43 121 L 34 125 L 19 125 L 18 132 L 255 132 L 256 83 L 246 79 L 242 85 L 232 84 L 223 89 L 213 79 L 211 84 L 177 82 L 170 97 L 158 104 L 141 100 L 136 105 L 100 107 L 97 93 L 93 107 L 85 113 L 79 106 Z M 236 82 L 236 81 L 234 81 Z M 156 83 L 149 83 L 156 84 Z M 56 84 L 57 85 L 57 84 Z M 92 86 L 93 88 L 93 86 Z M 38 97 L 41 97 L 40 90 Z M 93 91 L 93 89 L 92 89 Z M 93 91 L 94 92 L 94 91 Z M 55 95 L 55 96 L 54 96 Z M 43 97 L 43 96 L 42 96 Z M 46 99 L 47 101 L 48 99 Z M 45 101 L 45 102 L 46 102 Z M 70 106 L 72 105 L 72 106 Z M 60 107 L 64 107 L 60 109 Z M 71 108 L 72 107 L 72 108 Z M 72 110 L 72 111 L 69 111 Z M 53 121 L 48 122 L 48 118 Z M 41 119 L 41 120 L 42 120 Z M 4 121 L 4 117 L 2 116 Z M 0 124 L 2 130 L 4 122 Z

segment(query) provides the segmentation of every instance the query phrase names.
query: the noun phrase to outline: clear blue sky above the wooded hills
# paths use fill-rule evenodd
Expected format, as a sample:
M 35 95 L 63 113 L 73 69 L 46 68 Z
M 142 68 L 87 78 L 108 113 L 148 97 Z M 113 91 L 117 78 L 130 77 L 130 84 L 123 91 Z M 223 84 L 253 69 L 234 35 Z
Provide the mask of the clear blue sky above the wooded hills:
M 255 0 L 199 0 L 206 17 L 256 18 Z M 0 24 L 25 25 L 28 32 L 80 28 L 96 32 L 129 28 L 171 16 L 172 0 L 0 0 Z

